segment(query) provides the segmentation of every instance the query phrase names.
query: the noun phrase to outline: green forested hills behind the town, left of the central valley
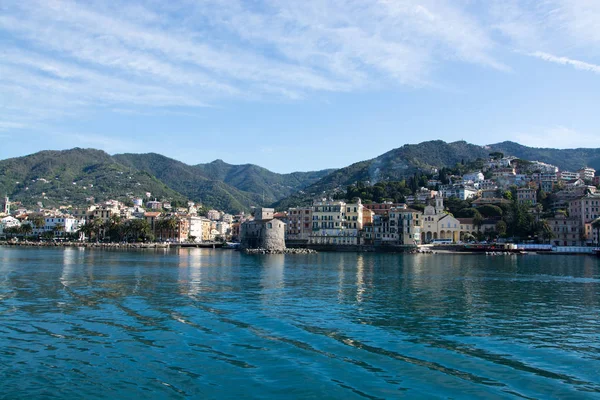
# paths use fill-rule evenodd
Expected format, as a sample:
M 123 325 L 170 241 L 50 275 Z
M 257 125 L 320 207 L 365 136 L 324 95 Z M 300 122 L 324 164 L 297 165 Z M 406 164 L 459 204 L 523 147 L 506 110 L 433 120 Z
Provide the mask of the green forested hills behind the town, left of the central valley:
M 268 205 L 330 171 L 277 174 L 221 160 L 187 165 L 160 154 L 109 154 L 94 149 L 41 151 L 0 161 L 0 194 L 26 205 L 83 205 L 110 198 L 152 197 L 239 212 Z

